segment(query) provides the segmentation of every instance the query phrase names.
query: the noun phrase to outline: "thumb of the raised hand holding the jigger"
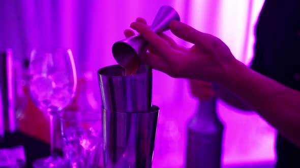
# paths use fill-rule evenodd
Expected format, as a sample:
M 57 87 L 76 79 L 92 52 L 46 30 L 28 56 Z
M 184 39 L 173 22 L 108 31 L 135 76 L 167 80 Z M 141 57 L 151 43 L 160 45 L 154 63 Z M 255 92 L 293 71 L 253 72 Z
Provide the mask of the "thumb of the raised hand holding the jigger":
M 171 32 L 177 37 L 192 44 L 203 45 L 206 48 L 211 48 L 214 44 L 213 42 L 217 38 L 211 34 L 200 32 L 193 27 L 179 21 L 172 21 L 170 23 L 170 29 Z

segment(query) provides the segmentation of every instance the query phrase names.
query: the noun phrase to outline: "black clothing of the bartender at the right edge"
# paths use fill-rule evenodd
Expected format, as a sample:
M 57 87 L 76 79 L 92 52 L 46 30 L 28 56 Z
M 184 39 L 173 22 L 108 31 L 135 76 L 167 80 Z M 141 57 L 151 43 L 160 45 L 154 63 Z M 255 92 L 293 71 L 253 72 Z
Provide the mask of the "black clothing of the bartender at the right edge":
M 251 68 L 300 91 L 299 0 L 265 0 L 256 25 Z M 280 134 L 276 150 L 277 168 L 300 167 L 300 148 Z

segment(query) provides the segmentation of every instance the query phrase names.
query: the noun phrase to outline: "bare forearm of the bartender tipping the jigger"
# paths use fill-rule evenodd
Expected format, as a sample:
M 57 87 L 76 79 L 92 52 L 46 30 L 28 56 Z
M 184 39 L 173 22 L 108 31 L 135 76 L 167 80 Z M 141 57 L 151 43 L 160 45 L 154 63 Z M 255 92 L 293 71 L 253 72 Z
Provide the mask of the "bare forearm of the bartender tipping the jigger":
M 244 99 L 282 135 L 300 146 L 300 92 L 237 62 L 221 85 Z

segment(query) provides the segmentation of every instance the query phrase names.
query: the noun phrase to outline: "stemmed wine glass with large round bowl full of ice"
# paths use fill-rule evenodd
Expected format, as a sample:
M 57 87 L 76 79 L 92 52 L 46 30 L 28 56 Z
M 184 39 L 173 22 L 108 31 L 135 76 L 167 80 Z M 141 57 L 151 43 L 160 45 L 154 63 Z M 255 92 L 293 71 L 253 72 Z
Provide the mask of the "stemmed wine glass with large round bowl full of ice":
M 65 161 L 54 151 L 56 119 L 73 99 L 77 75 L 71 50 L 39 49 L 31 52 L 29 92 L 33 102 L 50 117 L 50 156 L 33 162 L 39 167 L 65 167 Z

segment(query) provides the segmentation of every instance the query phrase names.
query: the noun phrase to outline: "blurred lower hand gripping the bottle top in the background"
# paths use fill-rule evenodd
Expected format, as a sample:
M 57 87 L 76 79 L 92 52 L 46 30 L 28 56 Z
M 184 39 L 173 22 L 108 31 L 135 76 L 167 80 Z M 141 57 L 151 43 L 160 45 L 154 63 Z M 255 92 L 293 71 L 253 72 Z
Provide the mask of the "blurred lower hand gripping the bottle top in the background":
M 199 100 L 211 100 L 217 96 L 212 82 L 195 79 L 189 79 L 189 81 L 192 95 Z

